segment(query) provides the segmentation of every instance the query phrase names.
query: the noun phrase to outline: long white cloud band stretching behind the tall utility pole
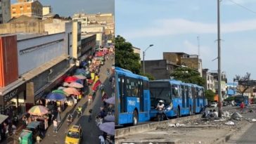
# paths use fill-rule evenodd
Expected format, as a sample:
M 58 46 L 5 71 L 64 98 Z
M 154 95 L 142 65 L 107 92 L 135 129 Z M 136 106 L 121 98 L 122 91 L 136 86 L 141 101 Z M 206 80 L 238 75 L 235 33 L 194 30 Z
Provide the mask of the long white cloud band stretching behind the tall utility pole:
M 221 23 L 222 33 L 256 30 L 256 19 Z M 185 19 L 155 20 L 152 25 L 142 29 L 129 30 L 121 35 L 129 38 L 158 37 L 176 34 L 217 34 L 216 23 L 194 22 Z

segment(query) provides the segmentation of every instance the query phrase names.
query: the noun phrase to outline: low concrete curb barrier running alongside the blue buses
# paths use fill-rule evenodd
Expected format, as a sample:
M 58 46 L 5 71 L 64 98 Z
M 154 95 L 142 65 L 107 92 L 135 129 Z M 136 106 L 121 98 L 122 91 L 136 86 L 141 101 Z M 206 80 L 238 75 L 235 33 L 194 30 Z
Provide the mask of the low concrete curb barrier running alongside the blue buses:
M 137 126 L 130 126 L 122 129 L 115 129 L 115 138 L 120 138 L 122 136 L 127 136 L 129 134 L 141 133 L 143 131 L 150 131 L 156 129 L 158 126 L 167 126 L 168 124 L 177 124 L 181 122 L 186 122 L 193 119 L 199 119 L 201 114 L 191 115 L 188 117 L 180 117 L 177 119 L 169 119 L 162 122 L 151 122 L 148 124 L 140 124 Z

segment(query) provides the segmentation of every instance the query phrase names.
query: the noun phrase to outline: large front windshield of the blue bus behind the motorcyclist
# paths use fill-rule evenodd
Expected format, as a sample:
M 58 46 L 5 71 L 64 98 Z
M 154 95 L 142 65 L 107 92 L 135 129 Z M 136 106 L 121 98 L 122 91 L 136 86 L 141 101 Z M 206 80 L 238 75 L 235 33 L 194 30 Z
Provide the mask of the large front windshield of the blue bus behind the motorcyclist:
M 163 100 L 164 103 L 171 103 L 169 88 L 151 88 L 151 107 L 158 105 L 159 100 Z

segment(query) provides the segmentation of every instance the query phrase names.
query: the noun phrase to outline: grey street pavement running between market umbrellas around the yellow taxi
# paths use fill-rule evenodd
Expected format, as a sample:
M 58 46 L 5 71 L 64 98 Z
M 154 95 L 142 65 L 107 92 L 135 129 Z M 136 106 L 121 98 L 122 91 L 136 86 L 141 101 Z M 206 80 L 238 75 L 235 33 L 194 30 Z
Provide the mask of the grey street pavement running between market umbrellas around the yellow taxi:
M 108 94 L 108 96 L 110 96 L 111 94 L 111 89 L 110 86 L 108 85 L 108 79 L 107 79 L 107 75 L 106 75 L 106 69 L 107 67 L 111 67 L 111 65 L 114 63 L 114 60 L 108 60 L 105 62 L 105 65 L 103 65 L 101 67 L 101 71 L 100 71 L 100 79 L 101 82 L 104 85 L 104 89 L 105 92 Z M 94 99 L 94 103 L 91 103 L 90 107 L 87 107 L 87 98 L 82 98 L 82 100 L 79 101 L 79 103 L 77 104 L 76 107 L 78 107 L 79 105 L 82 105 L 82 116 L 78 119 L 75 118 L 74 122 L 72 122 L 72 124 L 80 124 L 82 126 L 83 129 L 83 140 L 82 143 L 83 144 L 92 144 L 92 143 L 99 143 L 98 140 L 98 135 L 102 134 L 102 132 L 98 129 L 98 127 L 96 126 L 96 122 L 95 122 L 95 115 L 99 112 L 99 107 L 101 107 L 101 105 L 103 105 L 102 101 L 101 101 L 101 93 L 97 92 L 96 93 L 96 98 Z M 94 114 L 92 116 L 92 120 L 89 123 L 88 122 L 88 115 L 89 112 L 88 110 L 92 108 L 94 110 Z M 62 112 L 61 117 L 63 119 L 63 123 L 60 124 L 60 127 L 58 129 L 58 133 L 53 133 L 53 126 L 51 125 L 46 133 L 46 137 L 44 138 L 44 140 L 42 140 L 41 143 L 45 143 L 45 144 L 50 144 L 50 143 L 65 143 L 65 133 L 68 131 L 68 125 L 66 123 L 66 117 L 68 116 L 69 112 L 73 112 L 74 110 L 76 110 L 75 107 L 68 107 L 64 112 Z M 75 116 L 76 116 L 76 112 L 75 112 Z

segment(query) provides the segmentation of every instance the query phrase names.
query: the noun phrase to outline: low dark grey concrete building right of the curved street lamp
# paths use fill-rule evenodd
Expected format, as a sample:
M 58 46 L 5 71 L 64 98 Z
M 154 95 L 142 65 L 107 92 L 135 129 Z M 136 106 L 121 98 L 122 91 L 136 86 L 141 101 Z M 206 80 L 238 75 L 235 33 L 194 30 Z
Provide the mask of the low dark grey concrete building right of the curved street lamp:
M 174 69 L 180 67 L 169 60 L 145 60 L 145 72 L 152 74 L 155 79 L 170 79 L 170 74 Z M 143 60 L 141 60 L 141 69 Z M 143 70 L 141 70 L 143 72 Z

